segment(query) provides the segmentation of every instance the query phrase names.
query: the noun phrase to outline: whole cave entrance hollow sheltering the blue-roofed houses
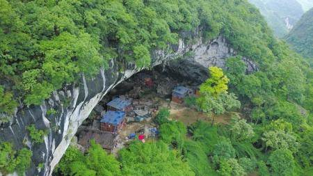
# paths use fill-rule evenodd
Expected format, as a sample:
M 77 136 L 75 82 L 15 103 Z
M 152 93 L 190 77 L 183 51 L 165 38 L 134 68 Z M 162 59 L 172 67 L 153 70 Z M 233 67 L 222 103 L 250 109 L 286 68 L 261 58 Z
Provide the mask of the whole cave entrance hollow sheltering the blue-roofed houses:
M 90 116 L 79 127 L 76 134 L 76 139 L 78 139 L 76 141 L 77 147 L 84 150 L 88 147 L 90 140 L 95 139 L 104 149 L 115 153 L 135 134 L 137 136 L 145 134 L 147 137 L 154 138 L 156 133 L 154 130 L 156 130 L 157 125 L 154 123 L 153 118 L 157 111 L 162 107 L 176 106 L 179 109 L 179 106 L 183 106 L 171 101 L 172 90 L 177 86 L 184 86 L 188 90 L 196 90 L 198 82 L 182 77 L 180 74 L 168 72 L 161 66 L 154 67 L 153 70 L 143 70 L 122 81 L 104 96 L 90 113 Z M 193 91 L 189 93 L 191 92 Z M 127 102 L 129 102 L 130 107 Z M 121 107 L 112 107 L 114 105 L 111 104 L 119 104 Z M 119 110 L 119 108 L 122 110 Z M 125 117 L 123 117 L 125 121 L 117 120 L 114 127 L 111 126 L 111 123 L 108 125 L 102 121 L 104 116 L 112 110 L 126 112 Z M 109 118 L 116 118 L 116 115 Z

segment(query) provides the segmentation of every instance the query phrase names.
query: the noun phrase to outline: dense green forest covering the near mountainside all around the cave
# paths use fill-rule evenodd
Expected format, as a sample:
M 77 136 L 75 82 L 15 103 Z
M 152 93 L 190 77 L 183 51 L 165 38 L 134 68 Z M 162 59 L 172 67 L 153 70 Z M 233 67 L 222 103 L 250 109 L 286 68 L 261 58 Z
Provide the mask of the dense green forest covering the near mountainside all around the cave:
M 223 35 L 238 56 L 209 68 L 193 99 L 199 111 L 236 111 L 229 125 L 186 127 L 159 111 L 159 141 L 135 141 L 117 158 L 92 143 L 70 147 L 59 175 L 313 175 L 313 70 L 275 39 L 259 10 L 246 0 L 0 0 L 0 122 L 17 104 L 39 105 L 53 90 L 93 77 L 108 61 L 150 67 L 151 52 Z M 246 74 L 241 56 L 258 72 Z M 36 142 L 42 133 L 29 127 Z M 26 149 L 0 145 L 0 171 L 22 173 Z M 42 166 L 41 166 L 42 167 Z

